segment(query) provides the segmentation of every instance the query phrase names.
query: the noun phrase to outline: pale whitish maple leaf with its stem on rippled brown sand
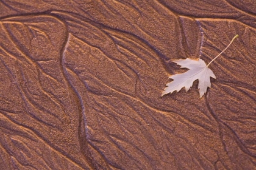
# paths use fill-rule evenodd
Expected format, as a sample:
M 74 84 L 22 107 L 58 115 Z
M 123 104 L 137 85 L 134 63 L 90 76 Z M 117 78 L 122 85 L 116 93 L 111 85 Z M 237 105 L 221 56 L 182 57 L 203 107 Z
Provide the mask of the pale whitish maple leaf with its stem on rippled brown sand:
M 232 41 L 230 41 L 226 49 L 230 46 L 230 44 L 232 44 L 233 40 L 236 37 L 238 37 L 238 35 L 234 36 L 234 38 L 232 39 Z M 223 53 L 226 49 L 224 49 L 221 53 Z M 218 58 L 218 56 L 220 56 L 221 53 L 219 53 L 219 55 L 217 55 L 208 65 L 206 65 L 204 60 L 200 58 L 197 58 L 197 60 L 193 60 L 191 58 L 186 58 L 185 60 L 172 60 L 172 62 L 181 66 L 180 68 L 187 68 L 189 70 L 185 73 L 171 75 L 169 78 L 171 78 L 173 81 L 166 84 L 167 87 L 165 87 L 162 96 L 172 93 L 174 91 L 179 92 L 183 87 L 185 87 L 185 90 L 187 92 L 188 90 L 190 90 L 190 87 L 193 86 L 193 82 L 198 79 L 198 89 L 201 98 L 207 92 L 207 88 L 211 87 L 210 77 L 216 79 L 215 74 L 211 69 L 208 68 L 208 66 L 216 58 Z

